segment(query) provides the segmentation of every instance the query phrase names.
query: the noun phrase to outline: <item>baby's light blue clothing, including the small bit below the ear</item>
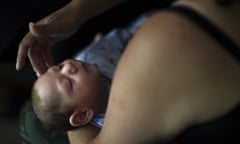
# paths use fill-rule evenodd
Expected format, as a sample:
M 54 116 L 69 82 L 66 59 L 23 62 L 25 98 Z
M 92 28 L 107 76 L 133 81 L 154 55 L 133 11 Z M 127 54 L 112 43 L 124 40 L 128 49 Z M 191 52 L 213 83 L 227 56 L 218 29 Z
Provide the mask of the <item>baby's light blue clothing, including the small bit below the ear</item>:
M 148 15 L 149 13 L 140 16 L 125 29 L 113 29 L 100 41 L 81 51 L 76 59 L 89 64 L 96 64 L 103 75 L 112 79 L 117 63 L 128 41 Z M 100 114 L 95 116 L 90 123 L 102 128 L 104 115 L 105 114 Z

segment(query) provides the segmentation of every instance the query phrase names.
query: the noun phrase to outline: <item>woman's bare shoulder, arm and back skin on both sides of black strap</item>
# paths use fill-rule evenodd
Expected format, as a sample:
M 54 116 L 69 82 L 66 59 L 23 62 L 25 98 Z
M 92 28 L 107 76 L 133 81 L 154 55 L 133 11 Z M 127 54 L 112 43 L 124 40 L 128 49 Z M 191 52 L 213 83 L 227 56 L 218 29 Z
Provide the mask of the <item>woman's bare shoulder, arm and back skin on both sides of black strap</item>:
M 239 42 L 238 9 L 213 7 L 213 1 L 195 4 Z M 224 17 L 227 23 L 223 13 L 231 14 Z M 157 13 L 128 45 L 115 73 L 103 129 L 91 143 L 164 142 L 217 119 L 240 102 L 239 73 L 239 63 L 198 26 L 174 13 Z

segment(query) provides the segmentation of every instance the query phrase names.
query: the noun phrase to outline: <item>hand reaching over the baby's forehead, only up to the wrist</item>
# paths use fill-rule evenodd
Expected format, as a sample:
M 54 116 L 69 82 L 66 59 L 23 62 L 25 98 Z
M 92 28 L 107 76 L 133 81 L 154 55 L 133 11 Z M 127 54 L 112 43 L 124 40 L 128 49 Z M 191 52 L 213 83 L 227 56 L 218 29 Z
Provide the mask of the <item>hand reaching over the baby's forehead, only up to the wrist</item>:
M 34 71 L 43 74 L 53 64 L 51 56 L 52 46 L 60 40 L 71 36 L 80 23 L 75 14 L 74 1 L 70 2 L 58 11 L 43 18 L 37 23 L 29 24 L 29 32 L 22 39 L 16 62 L 16 69 L 24 67 L 28 56 Z

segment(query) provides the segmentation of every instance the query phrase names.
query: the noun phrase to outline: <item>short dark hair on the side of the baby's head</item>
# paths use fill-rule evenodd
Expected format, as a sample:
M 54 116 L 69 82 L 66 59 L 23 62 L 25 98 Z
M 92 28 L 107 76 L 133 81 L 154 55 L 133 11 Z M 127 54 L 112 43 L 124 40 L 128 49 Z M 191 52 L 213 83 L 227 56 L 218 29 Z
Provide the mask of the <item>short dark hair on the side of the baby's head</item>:
M 73 107 L 66 106 L 64 111 L 60 111 L 57 101 L 44 102 L 39 92 L 34 88 L 32 89 L 32 106 L 37 118 L 46 128 L 56 131 L 67 131 L 75 128 L 69 123 Z

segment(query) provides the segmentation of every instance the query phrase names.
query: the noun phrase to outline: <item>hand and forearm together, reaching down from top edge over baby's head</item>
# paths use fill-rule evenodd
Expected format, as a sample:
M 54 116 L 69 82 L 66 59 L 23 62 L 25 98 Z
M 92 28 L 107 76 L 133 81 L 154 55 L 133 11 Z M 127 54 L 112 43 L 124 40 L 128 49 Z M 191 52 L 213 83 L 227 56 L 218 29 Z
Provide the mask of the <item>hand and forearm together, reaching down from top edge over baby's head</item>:
M 16 69 L 24 67 L 28 56 L 34 71 L 43 74 L 53 64 L 52 46 L 73 33 L 86 20 L 122 3 L 126 0 L 72 0 L 66 6 L 29 24 L 29 32 L 19 45 Z

